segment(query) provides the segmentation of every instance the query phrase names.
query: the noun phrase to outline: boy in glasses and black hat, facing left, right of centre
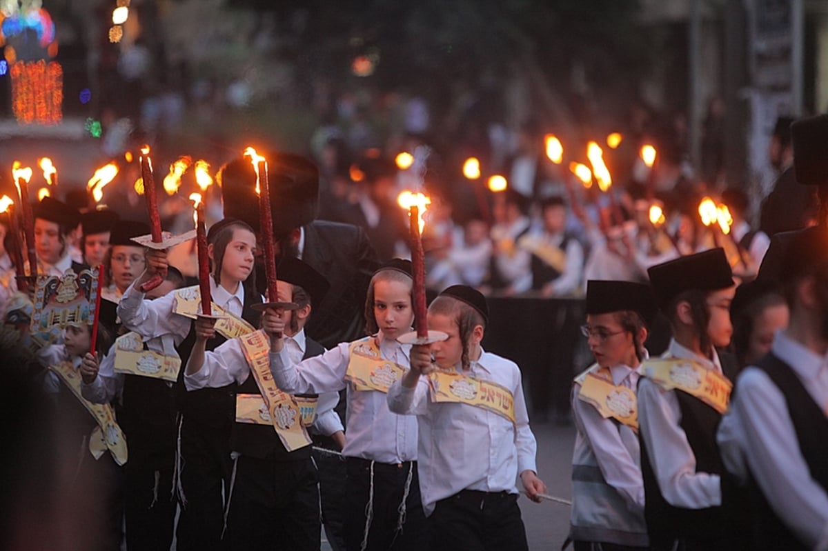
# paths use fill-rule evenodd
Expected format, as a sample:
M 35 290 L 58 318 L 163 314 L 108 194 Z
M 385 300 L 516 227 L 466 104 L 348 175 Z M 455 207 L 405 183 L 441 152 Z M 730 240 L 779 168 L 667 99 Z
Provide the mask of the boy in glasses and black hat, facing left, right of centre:
M 649 285 L 590 280 L 588 339 L 595 364 L 575 378 L 570 539 L 575 551 L 647 549 L 635 388 L 657 314 Z

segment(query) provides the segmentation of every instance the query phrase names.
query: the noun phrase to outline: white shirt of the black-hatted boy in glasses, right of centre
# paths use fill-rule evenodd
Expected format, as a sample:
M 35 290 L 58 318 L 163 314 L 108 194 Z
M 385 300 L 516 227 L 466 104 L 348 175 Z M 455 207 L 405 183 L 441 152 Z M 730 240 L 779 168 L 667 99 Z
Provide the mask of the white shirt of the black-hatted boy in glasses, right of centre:
M 633 392 L 638 386 L 640 371 L 625 365 L 609 368 L 614 386 L 625 386 Z M 573 458 L 582 462 L 589 455 L 604 475 L 604 481 L 623 496 L 630 509 L 644 514 L 644 482 L 641 475 L 641 448 L 638 435 L 625 424 L 604 419 L 594 406 L 578 398 L 580 385 L 572 390 L 572 416 L 578 434 L 575 436 Z M 577 497 L 577 496 L 576 496 Z

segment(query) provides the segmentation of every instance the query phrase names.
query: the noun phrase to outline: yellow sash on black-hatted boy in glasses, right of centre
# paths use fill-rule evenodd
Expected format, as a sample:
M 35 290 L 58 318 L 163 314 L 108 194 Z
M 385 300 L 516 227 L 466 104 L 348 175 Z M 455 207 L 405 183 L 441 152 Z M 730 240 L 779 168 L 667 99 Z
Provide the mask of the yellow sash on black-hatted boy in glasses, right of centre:
M 635 391 L 615 386 L 609 370 L 591 367 L 575 378 L 580 385 L 578 400 L 598 410 L 601 417 L 610 417 L 638 432 L 638 400 Z

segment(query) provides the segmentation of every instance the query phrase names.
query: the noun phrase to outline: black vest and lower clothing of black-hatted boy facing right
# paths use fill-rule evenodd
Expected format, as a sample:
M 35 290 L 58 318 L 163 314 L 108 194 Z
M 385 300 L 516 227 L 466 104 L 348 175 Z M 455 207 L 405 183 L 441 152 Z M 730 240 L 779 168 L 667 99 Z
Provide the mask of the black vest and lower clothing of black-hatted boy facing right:
M 720 353 L 720 362 L 724 376 L 734 381 L 738 367 L 733 357 Z M 744 514 L 744 501 L 724 471 L 716 445 L 716 430 L 719 428 L 721 414 L 682 390 L 675 390 L 675 393 L 681 410 L 679 425 L 696 457 L 696 472 L 708 472 L 721 477 L 722 505 L 686 509 L 667 503 L 658 487 L 646 443 L 639 432 L 647 532 L 653 543 L 672 539 L 704 541 L 738 538 L 744 534 L 748 520 Z

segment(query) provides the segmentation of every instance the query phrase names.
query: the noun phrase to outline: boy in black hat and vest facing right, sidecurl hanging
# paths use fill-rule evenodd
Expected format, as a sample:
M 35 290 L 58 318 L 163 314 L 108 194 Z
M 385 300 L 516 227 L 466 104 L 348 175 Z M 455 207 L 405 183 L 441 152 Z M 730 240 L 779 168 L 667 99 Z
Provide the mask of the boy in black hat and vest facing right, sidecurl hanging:
M 643 362 L 639 442 L 652 549 L 742 549 L 740 507 L 715 442 L 738 367 L 716 351 L 733 333 L 733 275 L 721 248 L 648 271 L 673 337 Z

